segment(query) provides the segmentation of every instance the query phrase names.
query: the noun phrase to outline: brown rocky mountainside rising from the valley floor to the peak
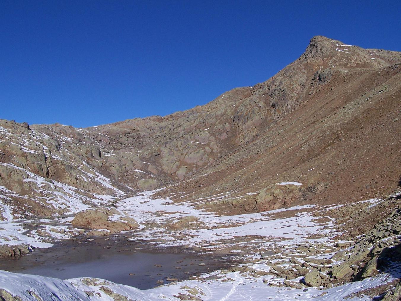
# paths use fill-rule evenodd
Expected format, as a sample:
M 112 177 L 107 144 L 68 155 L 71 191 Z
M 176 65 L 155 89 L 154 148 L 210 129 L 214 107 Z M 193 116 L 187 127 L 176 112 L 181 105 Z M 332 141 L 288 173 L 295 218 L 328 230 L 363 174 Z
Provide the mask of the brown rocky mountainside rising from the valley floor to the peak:
M 229 192 L 199 203 L 221 213 L 388 193 L 401 162 L 400 62 L 318 36 L 267 81 L 184 112 L 82 129 L 0 120 L 2 198 L 16 216 L 51 216 L 170 184 L 177 199 Z M 271 186 L 288 180 L 304 188 Z

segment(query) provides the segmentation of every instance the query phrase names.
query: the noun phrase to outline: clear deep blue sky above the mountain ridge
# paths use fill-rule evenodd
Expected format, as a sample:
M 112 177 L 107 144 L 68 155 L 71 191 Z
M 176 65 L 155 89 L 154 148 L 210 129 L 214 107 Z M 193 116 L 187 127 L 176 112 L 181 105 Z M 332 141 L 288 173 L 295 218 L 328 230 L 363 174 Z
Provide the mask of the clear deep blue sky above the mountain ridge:
M 315 35 L 401 51 L 400 1 L 0 0 L 0 118 L 166 115 L 265 81 Z

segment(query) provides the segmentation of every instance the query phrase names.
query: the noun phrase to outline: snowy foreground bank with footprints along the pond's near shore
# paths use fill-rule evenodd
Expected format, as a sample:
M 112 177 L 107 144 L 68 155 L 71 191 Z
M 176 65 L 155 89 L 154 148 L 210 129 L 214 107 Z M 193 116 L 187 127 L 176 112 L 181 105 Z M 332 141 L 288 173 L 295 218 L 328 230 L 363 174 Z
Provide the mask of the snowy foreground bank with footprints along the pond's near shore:
M 399 270 L 399 266 L 395 269 Z M 386 273 L 363 281 L 346 283 L 330 289 L 319 290 L 308 288 L 306 291 L 289 287 L 274 287 L 263 283 L 265 277 L 249 279 L 231 272 L 219 275 L 218 272 L 205 274 L 201 280 L 188 280 L 170 283 L 148 290 L 140 290 L 127 285 L 119 285 L 101 279 L 55 279 L 36 275 L 23 275 L 0 271 L 0 287 L 13 296 L 23 300 L 203 300 L 203 301 L 265 301 L 265 300 L 371 300 L 360 293 L 388 283 L 400 277 L 400 273 Z M 222 276 L 220 279 L 209 280 L 213 275 Z M 178 299 L 187 295 L 192 299 Z M 177 296 L 177 297 L 174 297 Z M 124 299 L 124 297 L 126 299 Z M 198 299 L 195 299 L 198 298 Z

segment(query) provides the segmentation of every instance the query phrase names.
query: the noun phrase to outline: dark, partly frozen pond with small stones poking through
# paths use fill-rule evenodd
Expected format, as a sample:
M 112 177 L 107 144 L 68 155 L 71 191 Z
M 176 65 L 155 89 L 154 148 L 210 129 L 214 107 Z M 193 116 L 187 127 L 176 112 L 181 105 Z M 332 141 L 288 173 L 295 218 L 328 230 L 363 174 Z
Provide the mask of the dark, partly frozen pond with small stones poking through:
M 226 268 L 233 262 L 233 258 L 223 256 L 144 248 L 140 242 L 115 236 L 110 240 L 78 238 L 60 242 L 51 248 L 35 249 L 28 255 L 0 260 L 0 269 L 59 279 L 96 277 L 149 289 L 160 285 L 156 283 L 160 279 L 164 283 L 170 282 L 167 278 L 184 280 L 217 268 Z

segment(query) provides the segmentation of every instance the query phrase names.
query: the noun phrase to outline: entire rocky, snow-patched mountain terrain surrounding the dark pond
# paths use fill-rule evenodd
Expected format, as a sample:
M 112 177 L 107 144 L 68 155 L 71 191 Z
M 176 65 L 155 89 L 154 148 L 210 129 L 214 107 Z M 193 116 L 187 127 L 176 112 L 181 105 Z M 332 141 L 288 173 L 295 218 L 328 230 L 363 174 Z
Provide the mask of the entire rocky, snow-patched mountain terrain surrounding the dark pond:
M 3 260 L 124 232 L 242 262 L 149 292 L 2 271 L 0 299 L 399 300 L 400 119 L 401 53 L 316 36 L 267 81 L 187 111 L 0 120 Z

